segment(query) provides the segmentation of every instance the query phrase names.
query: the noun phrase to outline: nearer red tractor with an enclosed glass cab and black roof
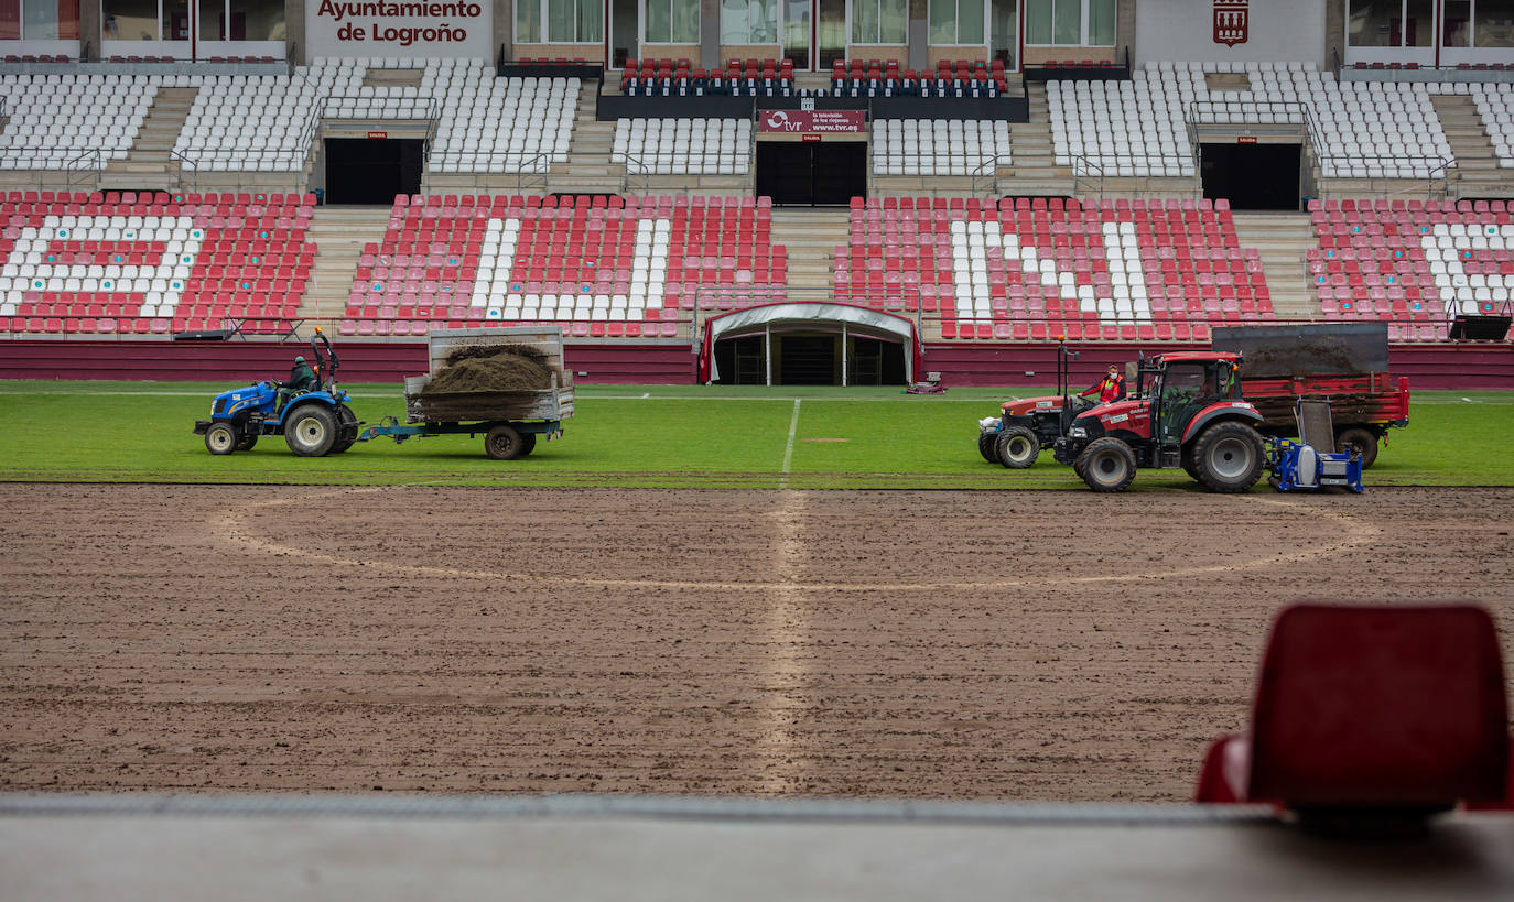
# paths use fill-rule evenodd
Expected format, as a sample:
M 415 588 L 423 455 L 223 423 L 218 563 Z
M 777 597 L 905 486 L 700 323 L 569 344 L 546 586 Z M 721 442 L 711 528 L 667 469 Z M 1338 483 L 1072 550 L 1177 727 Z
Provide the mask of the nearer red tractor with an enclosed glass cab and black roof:
M 1238 368 L 1240 354 L 1226 351 L 1143 356 L 1128 400 L 1063 409 L 1057 462 L 1095 492 L 1123 492 L 1139 468 L 1179 466 L 1211 492 L 1246 492 L 1261 478 L 1266 449 Z

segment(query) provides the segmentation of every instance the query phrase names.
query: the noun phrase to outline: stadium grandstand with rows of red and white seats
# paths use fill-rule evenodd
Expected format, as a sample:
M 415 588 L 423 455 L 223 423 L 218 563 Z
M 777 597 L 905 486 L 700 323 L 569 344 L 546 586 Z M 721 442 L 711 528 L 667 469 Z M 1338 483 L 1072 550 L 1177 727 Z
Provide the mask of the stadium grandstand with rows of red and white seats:
M 1491 0 L 17 0 L 0 29 L 14 341 L 547 324 L 592 357 L 760 307 L 740 378 L 839 384 L 908 341 L 840 307 L 963 381 L 1004 344 L 1228 324 L 1508 347 Z

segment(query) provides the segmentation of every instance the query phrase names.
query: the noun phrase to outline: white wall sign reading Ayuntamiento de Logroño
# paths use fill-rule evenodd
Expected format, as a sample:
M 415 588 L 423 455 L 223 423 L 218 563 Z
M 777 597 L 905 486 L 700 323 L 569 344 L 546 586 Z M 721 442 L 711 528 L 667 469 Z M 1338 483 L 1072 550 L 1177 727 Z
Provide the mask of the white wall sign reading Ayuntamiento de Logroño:
M 310 0 L 304 5 L 307 58 L 315 56 L 472 56 L 494 59 L 494 5 L 360 3 Z

